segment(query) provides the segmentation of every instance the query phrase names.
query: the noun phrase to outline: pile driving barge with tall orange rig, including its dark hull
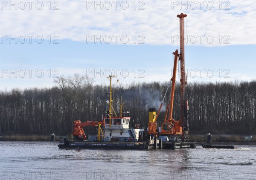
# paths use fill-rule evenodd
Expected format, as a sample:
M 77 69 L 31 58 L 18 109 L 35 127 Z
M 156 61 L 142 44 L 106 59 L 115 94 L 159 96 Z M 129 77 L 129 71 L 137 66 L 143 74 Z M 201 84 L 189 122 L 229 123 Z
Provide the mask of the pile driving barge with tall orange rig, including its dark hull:
M 166 108 L 165 118 L 161 127 L 157 129 L 157 118 L 159 116 L 160 110 L 163 105 L 163 101 L 157 112 L 154 108 L 149 110 L 149 122 L 148 122 L 148 135 L 150 136 L 150 141 L 152 148 L 163 148 L 163 149 L 175 149 L 175 148 L 195 148 L 196 143 L 188 143 L 187 135 L 189 132 L 188 124 L 188 100 L 185 99 L 185 85 L 187 84 L 187 76 L 185 73 L 185 58 L 184 58 L 184 17 L 186 14 L 178 14 L 177 17 L 180 18 L 180 54 L 176 50 L 174 54 L 174 65 L 172 74 L 172 89 L 170 93 L 170 101 Z M 180 119 L 175 120 L 172 118 L 174 93 L 175 93 L 175 81 L 177 73 L 177 63 L 178 58 L 180 61 Z M 168 88 L 167 88 L 168 90 Z M 166 93 L 167 93 L 166 90 Z M 159 138 L 159 139 L 157 139 Z

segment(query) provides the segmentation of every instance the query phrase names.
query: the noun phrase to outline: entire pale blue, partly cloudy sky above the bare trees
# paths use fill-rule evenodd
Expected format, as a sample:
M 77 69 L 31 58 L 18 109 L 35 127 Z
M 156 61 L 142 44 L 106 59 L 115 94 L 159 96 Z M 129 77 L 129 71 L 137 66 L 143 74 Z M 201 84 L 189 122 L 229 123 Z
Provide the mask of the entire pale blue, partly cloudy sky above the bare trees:
M 0 1 L 0 90 L 52 87 L 75 73 L 94 84 L 109 75 L 170 81 L 180 13 L 188 82 L 256 79 L 253 0 L 8 0 Z

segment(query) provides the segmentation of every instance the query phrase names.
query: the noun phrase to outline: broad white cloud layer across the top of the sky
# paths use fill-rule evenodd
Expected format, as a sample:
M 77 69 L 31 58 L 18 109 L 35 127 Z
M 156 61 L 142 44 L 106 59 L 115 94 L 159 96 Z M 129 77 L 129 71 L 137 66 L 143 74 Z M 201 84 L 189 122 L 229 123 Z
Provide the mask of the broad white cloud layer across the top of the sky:
M 97 43 L 176 45 L 178 41 L 174 39 L 179 26 L 176 16 L 183 12 L 188 15 L 184 23 L 189 45 L 256 44 L 256 39 L 252 38 L 256 37 L 256 24 L 253 23 L 256 3 L 253 0 L 242 3 L 239 0 L 204 3 L 42 0 L 42 3 L 33 1 L 31 7 L 27 1 L 23 1 L 26 3 L 24 10 L 21 1 L 11 2 L 16 2 L 16 5 L 10 6 L 9 1 L 1 1 L 1 35 L 40 34 L 44 38 L 58 35 L 60 39 L 92 43 L 97 38 Z M 41 4 L 43 8 L 39 10 Z

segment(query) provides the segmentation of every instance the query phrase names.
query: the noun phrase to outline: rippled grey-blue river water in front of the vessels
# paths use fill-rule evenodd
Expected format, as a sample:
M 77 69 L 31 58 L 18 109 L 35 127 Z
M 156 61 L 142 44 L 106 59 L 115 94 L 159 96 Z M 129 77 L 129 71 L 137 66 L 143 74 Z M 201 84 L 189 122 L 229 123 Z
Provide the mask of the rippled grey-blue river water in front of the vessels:
M 58 149 L 51 142 L 0 142 L 6 180 L 255 180 L 256 146 L 237 149 Z

